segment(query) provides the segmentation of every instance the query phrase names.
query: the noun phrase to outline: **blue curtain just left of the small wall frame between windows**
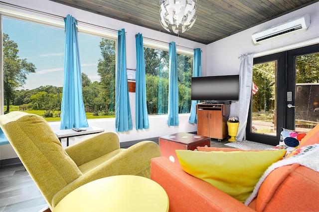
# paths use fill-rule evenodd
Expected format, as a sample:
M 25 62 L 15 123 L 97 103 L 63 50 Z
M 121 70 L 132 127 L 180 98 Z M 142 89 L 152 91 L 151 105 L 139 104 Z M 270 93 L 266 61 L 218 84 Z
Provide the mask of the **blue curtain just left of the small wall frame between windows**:
M 129 86 L 126 73 L 125 29 L 118 31 L 117 67 L 115 83 L 115 130 L 132 130 Z

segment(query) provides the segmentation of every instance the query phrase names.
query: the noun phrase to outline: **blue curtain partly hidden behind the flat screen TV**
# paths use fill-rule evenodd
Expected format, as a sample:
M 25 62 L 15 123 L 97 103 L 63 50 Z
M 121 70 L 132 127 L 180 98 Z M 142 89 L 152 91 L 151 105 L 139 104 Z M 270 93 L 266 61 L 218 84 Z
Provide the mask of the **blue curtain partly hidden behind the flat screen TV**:
M 193 69 L 193 76 L 201 76 L 201 50 L 200 48 L 194 49 L 194 69 Z M 196 104 L 199 103 L 199 100 L 192 100 L 191 101 L 191 108 L 190 108 L 190 117 L 189 123 L 197 124 L 197 114 L 196 114 Z

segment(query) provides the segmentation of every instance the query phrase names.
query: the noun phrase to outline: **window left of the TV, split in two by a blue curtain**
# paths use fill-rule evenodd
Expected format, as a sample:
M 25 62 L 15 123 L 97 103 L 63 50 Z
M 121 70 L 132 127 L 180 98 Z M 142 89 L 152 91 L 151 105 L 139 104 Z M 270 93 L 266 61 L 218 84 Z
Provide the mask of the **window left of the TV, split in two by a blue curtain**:
M 168 111 L 168 51 L 144 47 L 146 71 L 146 100 L 149 115 Z M 177 54 L 178 110 L 189 113 L 193 56 Z

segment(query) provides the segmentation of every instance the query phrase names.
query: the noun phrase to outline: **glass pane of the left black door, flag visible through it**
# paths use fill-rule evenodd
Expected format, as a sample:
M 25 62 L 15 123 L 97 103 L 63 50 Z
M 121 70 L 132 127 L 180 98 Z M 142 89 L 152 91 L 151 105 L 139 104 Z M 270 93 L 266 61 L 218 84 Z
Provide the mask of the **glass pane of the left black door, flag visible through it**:
M 276 136 L 277 60 L 254 64 L 251 132 Z

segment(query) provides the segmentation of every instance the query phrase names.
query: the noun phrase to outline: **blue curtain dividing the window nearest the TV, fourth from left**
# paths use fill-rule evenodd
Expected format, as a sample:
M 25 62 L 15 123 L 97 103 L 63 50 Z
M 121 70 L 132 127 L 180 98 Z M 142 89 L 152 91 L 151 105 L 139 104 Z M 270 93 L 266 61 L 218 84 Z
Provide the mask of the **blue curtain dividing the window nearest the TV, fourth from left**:
M 169 43 L 168 126 L 178 126 L 178 79 L 175 42 Z

